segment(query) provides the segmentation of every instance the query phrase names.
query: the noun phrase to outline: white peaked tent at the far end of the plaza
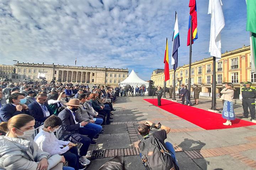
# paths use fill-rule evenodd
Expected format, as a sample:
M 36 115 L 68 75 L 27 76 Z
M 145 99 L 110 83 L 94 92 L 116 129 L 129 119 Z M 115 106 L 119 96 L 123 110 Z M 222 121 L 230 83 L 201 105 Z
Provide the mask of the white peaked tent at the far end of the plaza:
M 149 86 L 149 82 L 142 80 L 141 78 L 138 77 L 138 75 L 134 72 L 134 70 L 132 70 L 132 72 L 129 74 L 129 76 L 123 80 L 120 84 L 121 87 L 126 86 L 126 85 L 130 85 L 134 87 L 138 86 L 140 87 L 141 85 L 145 85 L 146 88 L 148 88 Z

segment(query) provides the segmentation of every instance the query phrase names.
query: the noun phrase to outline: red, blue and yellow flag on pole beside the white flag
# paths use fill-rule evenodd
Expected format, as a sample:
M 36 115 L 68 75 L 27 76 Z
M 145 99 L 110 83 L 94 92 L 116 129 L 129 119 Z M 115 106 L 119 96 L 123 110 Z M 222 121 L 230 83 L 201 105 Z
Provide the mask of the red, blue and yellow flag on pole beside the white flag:
M 196 0 L 190 0 L 190 18 L 188 21 L 188 38 L 187 38 L 187 46 L 190 45 L 190 21 L 192 18 L 192 44 L 198 38 L 197 36 L 197 9 L 196 9 Z

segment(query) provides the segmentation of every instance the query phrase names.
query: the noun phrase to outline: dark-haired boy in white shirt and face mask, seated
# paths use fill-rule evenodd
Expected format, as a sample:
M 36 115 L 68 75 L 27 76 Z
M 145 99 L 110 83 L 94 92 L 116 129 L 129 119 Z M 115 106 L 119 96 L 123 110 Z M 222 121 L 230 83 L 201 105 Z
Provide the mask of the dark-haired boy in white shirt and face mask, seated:
M 86 159 L 84 162 L 79 163 L 78 148 L 76 145 L 69 141 L 58 140 L 54 135 L 62 125 L 62 120 L 52 115 L 44 121 L 44 128 L 36 135 L 34 141 L 40 149 L 48 152 L 50 155 L 59 154 L 63 155 L 68 165 L 75 170 L 86 169 L 86 165 L 90 164 L 90 160 Z

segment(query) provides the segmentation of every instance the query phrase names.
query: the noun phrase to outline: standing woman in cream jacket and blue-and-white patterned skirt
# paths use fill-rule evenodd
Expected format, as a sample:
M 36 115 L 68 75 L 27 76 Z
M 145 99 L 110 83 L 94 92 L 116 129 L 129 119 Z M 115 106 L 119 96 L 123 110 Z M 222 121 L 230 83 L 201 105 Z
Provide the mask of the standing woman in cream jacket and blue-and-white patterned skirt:
M 225 88 L 220 92 L 222 94 L 221 99 L 224 100 L 222 117 L 226 119 L 223 125 L 232 125 L 231 120 L 235 120 L 235 113 L 233 108 L 234 97 L 234 85 L 232 83 L 226 83 Z

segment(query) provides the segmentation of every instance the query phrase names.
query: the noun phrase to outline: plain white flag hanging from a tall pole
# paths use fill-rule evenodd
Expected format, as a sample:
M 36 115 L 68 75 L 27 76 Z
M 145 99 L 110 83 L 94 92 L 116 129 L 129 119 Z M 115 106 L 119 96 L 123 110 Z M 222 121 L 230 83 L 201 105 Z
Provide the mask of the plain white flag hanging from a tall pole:
M 209 0 L 208 14 L 211 14 L 209 53 L 218 61 L 221 58 L 220 31 L 225 26 L 221 0 Z

